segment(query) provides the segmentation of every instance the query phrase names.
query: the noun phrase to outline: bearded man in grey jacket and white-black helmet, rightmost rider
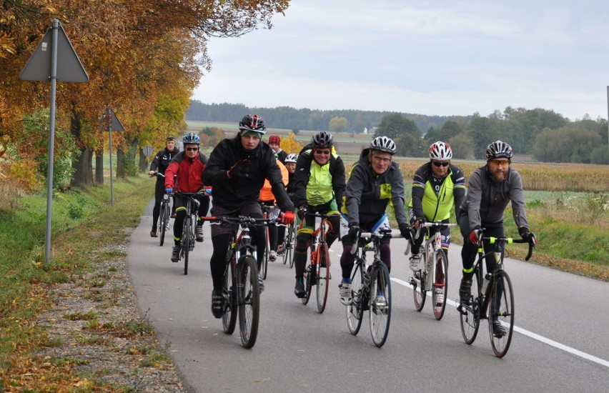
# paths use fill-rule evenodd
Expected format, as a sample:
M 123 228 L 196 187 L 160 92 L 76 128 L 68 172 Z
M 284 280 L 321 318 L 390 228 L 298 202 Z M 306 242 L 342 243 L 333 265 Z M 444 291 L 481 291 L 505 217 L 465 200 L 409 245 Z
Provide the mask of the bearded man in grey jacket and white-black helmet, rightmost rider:
M 463 277 L 459 296 L 461 302 L 469 302 L 472 288 L 473 264 L 477 254 L 477 243 L 484 229 L 485 237 L 502 237 L 503 212 L 508 202 L 512 202 L 514 221 L 520 236 L 530 243 L 537 243 L 535 234 L 529 231 L 525 212 L 523 180 L 515 169 L 510 168 L 512 147 L 495 141 L 486 148 L 487 163 L 476 169 L 467 182 L 467 197 L 461 204 L 459 226 L 463 236 L 461 259 Z M 484 242 L 485 252 L 503 252 L 502 246 Z M 487 272 L 495 271 L 494 255 L 486 258 Z M 493 321 L 496 337 L 505 335 L 500 322 Z

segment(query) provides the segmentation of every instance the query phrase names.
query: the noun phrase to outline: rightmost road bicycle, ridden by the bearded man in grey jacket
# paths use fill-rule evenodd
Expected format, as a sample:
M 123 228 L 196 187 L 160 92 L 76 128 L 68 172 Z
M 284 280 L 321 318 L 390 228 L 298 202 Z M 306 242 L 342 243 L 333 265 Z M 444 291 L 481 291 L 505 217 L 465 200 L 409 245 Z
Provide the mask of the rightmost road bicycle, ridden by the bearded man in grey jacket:
M 484 253 L 482 242 L 499 244 L 499 252 Z M 470 299 L 461 299 L 457 307 L 460 312 L 461 333 L 467 344 L 476 339 L 480 319 L 488 319 L 488 329 L 492 352 L 496 357 L 504 357 L 508 353 L 514 329 L 514 292 L 510 276 L 503 267 L 505 244 L 527 243 L 524 239 L 511 237 L 480 237 L 478 240 L 478 258 L 473 266 L 472 294 Z M 528 261 L 533 254 L 534 244 L 529 243 Z M 486 257 L 495 257 L 495 272 L 484 274 L 483 263 Z M 483 278 L 484 277 L 484 278 Z M 508 328 L 505 334 L 494 332 L 493 324 L 501 324 Z

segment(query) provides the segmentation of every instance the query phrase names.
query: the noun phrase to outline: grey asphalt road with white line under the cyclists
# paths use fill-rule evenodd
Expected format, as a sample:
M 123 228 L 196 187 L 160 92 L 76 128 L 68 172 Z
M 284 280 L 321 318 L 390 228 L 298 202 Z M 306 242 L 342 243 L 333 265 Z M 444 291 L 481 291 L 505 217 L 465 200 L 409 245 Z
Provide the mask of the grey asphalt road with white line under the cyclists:
M 195 392 L 607 392 L 609 391 L 609 284 L 514 259 L 505 260 L 515 293 L 515 334 L 497 359 L 487 324 L 472 345 L 463 342 L 454 300 L 460 247 L 452 245 L 449 298 L 436 321 L 430 299 L 422 312 L 407 287 L 410 269 L 403 239 L 392 241 L 392 319 L 382 348 L 372 343 L 368 315 L 352 336 L 338 299 L 340 242 L 331 249 L 332 281 L 324 314 L 315 299 L 294 297 L 294 271 L 269 262 L 257 342 L 244 349 L 237 332 L 222 332 L 211 312 L 212 246 L 191 254 L 189 274 L 170 261 L 165 245 L 149 237 L 152 202 L 132 234 L 129 272 L 142 314 L 166 342 L 179 372 Z M 171 232 L 171 231 L 170 231 Z

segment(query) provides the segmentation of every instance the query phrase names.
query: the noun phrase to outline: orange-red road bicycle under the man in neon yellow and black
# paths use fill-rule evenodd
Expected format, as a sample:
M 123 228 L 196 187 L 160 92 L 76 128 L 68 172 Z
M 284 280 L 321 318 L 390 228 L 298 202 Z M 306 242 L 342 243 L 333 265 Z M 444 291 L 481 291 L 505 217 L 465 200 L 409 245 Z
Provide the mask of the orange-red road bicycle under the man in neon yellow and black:
M 319 227 L 315 229 L 311 239 L 310 259 L 304 268 L 304 297 L 302 304 L 309 303 L 313 285 L 317 286 L 317 312 L 322 314 L 326 308 L 328 298 L 328 284 L 330 282 L 330 252 L 326 242 L 326 233 L 332 230 L 332 224 L 328 220 L 332 217 L 328 214 L 307 213 L 321 219 Z M 304 220 L 300 222 L 300 227 Z M 293 263 L 293 262 L 292 262 Z

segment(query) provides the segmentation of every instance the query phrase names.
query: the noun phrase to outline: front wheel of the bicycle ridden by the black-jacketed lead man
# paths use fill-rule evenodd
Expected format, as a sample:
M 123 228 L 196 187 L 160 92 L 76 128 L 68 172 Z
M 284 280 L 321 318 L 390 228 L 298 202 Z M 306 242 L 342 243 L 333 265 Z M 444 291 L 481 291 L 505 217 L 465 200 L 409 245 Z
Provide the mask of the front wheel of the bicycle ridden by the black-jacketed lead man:
M 258 336 L 258 320 L 260 316 L 260 288 L 258 286 L 257 262 L 251 255 L 242 257 L 237 267 L 241 294 L 239 295 L 239 329 L 241 344 L 252 348 Z

